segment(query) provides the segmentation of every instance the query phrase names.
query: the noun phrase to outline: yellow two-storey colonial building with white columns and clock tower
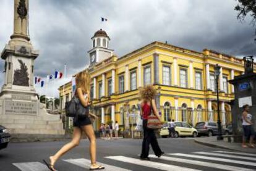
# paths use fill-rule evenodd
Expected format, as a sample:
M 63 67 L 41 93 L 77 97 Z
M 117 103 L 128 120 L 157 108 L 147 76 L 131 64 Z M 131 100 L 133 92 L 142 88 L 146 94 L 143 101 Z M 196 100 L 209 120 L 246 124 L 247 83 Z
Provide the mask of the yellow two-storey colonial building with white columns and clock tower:
M 98 30 L 92 37 L 93 48 L 88 51 L 90 65 L 86 70 L 92 77 L 93 112 L 99 117 L 96 129 L 110 120 L 122 128 L 132 127 L 134 116 L 139 114 L 139 88 L 145 85 L 155 86 L 163 121 L 174 119 L 191 125 L 216 121 L 216 64 L 221 66 L 221 123 L 231 122 L 234 87 L 228 80 L 244 72 L 242 59 L 210 49 L 197 52 L 156 41 L 117 57 L 108 48 L 109 41 L 106 32 Z M 70 92 L 71 82 L 59 88 L 62 107 L 71 98 Z

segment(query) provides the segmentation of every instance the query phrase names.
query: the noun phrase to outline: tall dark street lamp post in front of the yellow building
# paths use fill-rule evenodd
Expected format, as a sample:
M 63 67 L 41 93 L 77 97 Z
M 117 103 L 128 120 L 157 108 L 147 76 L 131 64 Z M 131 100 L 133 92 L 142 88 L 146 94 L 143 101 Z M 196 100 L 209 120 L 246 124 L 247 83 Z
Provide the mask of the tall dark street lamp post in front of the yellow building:
M 216 78 L 216 91 L 217 91 L 217 112 L 218 112 L 218 136 L 217 140 L 223 140 L 221 133 L 221 120 L 220 120 L 220 99 L 219 99 L 219 77 L 220 77 L 220 66 L 218 64 L 214 67 L 214 74 Z

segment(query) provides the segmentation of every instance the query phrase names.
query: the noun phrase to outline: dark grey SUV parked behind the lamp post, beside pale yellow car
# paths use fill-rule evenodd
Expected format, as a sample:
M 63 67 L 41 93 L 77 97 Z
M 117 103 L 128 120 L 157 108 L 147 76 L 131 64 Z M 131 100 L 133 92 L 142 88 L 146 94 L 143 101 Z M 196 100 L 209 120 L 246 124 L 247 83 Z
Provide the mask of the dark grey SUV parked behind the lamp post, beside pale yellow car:
M 198 131 L 198 135 L 218 135 L 218 125 L 216 122 L 198 122 L 195 125 L 195 128 Z M 228 130 L 221 128 L 223 134 L 228 135 Z

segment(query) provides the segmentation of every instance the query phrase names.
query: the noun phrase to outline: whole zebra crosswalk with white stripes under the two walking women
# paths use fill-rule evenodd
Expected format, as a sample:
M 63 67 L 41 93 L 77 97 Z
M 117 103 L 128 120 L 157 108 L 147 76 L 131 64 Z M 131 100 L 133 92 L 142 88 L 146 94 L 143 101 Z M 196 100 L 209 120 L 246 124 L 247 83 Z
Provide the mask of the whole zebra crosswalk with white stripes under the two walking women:
M 190 153 L 168 153 L 161 158 L 150 154 L 150 161 L 141 161 L 138 156 L 105 156 L 98 164 L 105 166 L 105 170 L 256 170 L 256 154 L 233 151 L 196 151 Z M 63 159 L 68 168 L 59 170 L 90 169 L 90 160 L 85 158 Z M 22 171 L 46 171 L 48 168 L 41 161 L 13 163 Z M 148 169 L 147 169 L 148 168 Z M 58 168 L 56 168 L 58 169 Z

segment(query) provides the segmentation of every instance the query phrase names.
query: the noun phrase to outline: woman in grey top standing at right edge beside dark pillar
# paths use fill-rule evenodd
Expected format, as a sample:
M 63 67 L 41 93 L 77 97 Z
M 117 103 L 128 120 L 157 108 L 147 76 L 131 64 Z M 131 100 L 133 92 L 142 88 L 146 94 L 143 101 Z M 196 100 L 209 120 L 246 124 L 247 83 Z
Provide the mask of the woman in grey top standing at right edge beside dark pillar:
M 247 148 L 248 146 L 245 144 L 247 139 L 249 140 L 249 146 L 251 148 L 255 148 L 254 142 L 254 128 L 252 127 L 252 115 L 249 114 L 250 107 L 248 104 L 243 106 L 244 111 L 242 112 L 242 130 L 243 130 L 243 138 L 242 138 L 242 147 Z

